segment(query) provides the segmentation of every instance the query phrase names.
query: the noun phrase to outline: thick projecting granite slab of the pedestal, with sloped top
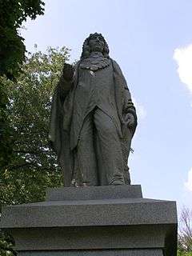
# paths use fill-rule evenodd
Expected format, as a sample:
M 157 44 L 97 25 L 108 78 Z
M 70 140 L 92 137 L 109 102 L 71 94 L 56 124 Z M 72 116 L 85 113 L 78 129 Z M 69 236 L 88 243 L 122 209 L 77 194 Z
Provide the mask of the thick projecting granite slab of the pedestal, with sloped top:
M 175 202 L 146 198 L 34 202 L 3 209 L 2 227 L 107 226 L 177 222 Z

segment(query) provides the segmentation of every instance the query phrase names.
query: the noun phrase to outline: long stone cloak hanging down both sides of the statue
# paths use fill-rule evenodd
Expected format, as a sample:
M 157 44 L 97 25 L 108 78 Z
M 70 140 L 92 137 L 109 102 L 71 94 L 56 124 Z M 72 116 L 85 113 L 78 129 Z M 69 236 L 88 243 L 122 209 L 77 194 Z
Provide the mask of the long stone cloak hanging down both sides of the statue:
M 122 155 L 124 164 L 124 177 L 126 183 L 130 183 L 129 168 L 127 159 L 130 153 L 130 143 L 137 126 L 137 115 L 134 104 L 131 100 L 130 91 L 126 85 L 126 79 L 118 63 L 110 59 L 114 72 L 114 97 L 118 110 L 118 118 L 121 123 L 120 140 L 122 144 Z M 71 186 L 74 178 L 74 149 L 78 143 L 80 129 L 76 132 L 76 138 L 71 138 L 70 127 L 74 111 L 74 94 L 78 85 L 78 62 L 74 66 L 73 81 L 67 82 L 63 77 L 60 78 L 58 85 L 54 90 L 54 96 L 51 105 L 50 117 L 50 143 L 58 155 L 58 162 L 62 167 L 64 175 L 64 186 Z M 134 115 L 134 126 L 128 127 L 126 123 L 126 114 Z M 84 117 L 85 118 L 85 117 Z M 83 118 L 81 120 L 83 123 Z

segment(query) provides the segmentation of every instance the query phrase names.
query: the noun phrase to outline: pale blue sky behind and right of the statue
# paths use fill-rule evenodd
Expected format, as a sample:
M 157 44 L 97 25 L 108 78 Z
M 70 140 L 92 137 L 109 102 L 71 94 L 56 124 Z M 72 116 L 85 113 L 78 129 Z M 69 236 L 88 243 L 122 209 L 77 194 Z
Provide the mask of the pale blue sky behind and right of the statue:
M 102 33 L 138 109 L 132 183 L 146 198 L 192 207 L 192 1 L 46 0 L 27 21 L 26 49 L 67 46 L 78 59 L 84 39 Z

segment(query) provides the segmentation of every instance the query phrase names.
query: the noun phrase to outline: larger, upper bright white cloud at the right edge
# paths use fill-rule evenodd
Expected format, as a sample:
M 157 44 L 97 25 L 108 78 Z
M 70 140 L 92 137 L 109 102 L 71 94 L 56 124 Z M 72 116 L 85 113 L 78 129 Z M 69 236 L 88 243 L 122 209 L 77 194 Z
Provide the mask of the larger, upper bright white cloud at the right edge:
M 178 76 L 192 94 L 192 44 L 174 50 L 174 60 L 178 63 Z

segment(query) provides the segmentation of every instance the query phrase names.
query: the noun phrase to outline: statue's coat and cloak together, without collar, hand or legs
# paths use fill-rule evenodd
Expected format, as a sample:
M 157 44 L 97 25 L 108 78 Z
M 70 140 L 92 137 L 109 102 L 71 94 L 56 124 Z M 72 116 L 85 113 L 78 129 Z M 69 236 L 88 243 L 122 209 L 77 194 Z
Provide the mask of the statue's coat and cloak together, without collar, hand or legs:
M 102 72 L 108 72 L 108 74 L 103 76 Z M 89 70 L 80 69 L 78 62 L 75 66 L 74 80 L 66 82 L 64 78 L 61 78 L 54 92 L 50 142 L 58 154 L 65 186 L 71 186 L 74 179 L 74 150 L 78 144 L 83 121 L 95 106 L 101 108 L 114 120 L 122 143 L 125 180 L 126 183 L 130 183 L 127 158 L 130 152 L 131 138 L 137 126 L 137 116 L 130 91 L 126 86 L 122 71 L 114 60 L 110 59 L 110 66 L 95 73 L 96 79 Z M 94 86 L 91 86 L 92 82 L 94 82 Z M 135 123 L 132 128 L 126 124 L 126 114 L 128 113 L 134 115 Z

